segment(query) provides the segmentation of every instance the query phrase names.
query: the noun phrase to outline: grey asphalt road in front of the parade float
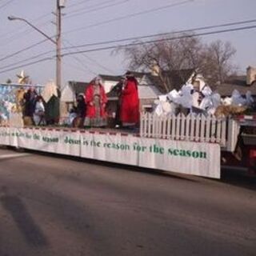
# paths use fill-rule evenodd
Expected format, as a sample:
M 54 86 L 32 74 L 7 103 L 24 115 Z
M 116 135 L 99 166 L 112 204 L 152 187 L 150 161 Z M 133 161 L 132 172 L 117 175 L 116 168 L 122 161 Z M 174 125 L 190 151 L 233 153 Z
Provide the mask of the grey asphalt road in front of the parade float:
M 256 255 L 256 180 L 0 150 L 0 255 Z

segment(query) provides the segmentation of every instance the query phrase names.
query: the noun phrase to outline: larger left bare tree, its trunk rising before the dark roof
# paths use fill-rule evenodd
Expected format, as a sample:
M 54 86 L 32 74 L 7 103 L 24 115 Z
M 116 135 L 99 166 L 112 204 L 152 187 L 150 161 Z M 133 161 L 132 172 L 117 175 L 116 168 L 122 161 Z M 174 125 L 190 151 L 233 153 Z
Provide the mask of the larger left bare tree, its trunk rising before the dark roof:
M 158 78 L 162 90 L 168 92 L 172 88 L 170 78 L 166 76 L 168 70 L 184 70 L 198 68 L 198 51 L 202 48 L 200 38 L 182 34 L 177 40 L 159 38 L 158 42 L 127 47 L 126 58 L 131 70 L 150 71 L 158 66 Z M 154 71 L 157 71 L 154 70 Z M 181 73 L 182 77 L 182 73 Z

